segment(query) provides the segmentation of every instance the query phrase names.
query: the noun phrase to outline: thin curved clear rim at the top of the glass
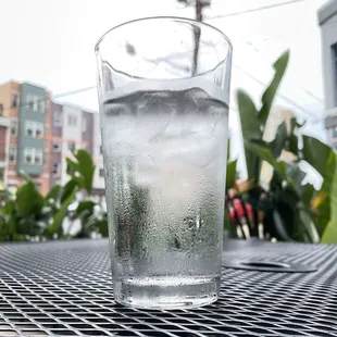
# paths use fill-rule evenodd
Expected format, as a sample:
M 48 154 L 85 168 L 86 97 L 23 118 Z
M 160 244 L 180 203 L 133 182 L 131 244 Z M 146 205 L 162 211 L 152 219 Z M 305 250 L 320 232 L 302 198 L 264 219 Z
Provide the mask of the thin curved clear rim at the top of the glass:
M 223 38 L 224 40 L 227 42 L 228 45 L 228 52 L 227 52 L 227 57 L 228 54 L 233 51 L 233 45 L 232 45 L 232 41 L 230 39 L 227 37 L 226 34 L 224 34 L 222 30 L 220 30 L 219 28 L 208 24 L 208 23 L 204 23 L 204 22 L 200 22 L 200 21 L 197 21 L 197 20 L 194 20 L 194 18 L 188 18 L 188 17 L 182 17 L 182 16 L 147 16 L 147 17 L 140 17 L 140 18 L 135 18 L 135 20 L 130 20 L 130 21 L 127 21 L 127 22 L 124 22 L 117 26 L 114 26 L 112 27 L 111 29 L 109 29 L 108 32 L 105 32 L 99 39 L 98 41 L 96 42 L 95 45 L 95 52 L 99 52 L 99 46 L 101 45 L 101 42 L 108 37 L 108 35 L 113 32 L 113 30 L 116 30 L 121 27 L 124 27 L 126 25 L 129 25 L 129 24 L 134 24 L 134 23 L 138 23 L 138 22 L 145 22 L 145 21 L 155 21 L 155 20 L 163 20 L 163 21 L 182 21 L 182 22 L 186 22 L 186 23 L 191 23 L 191 24 L 198 24 L 200 26 L 205 26 L 205 27 L 209 27 L 211 28 L 212 30 L 219 33 Z M 226 58 L 225 58 L 226 59 Z M 224 60 L 225 60 L 224 59 Z M 224 61 L 222 60 L 222 61 Z

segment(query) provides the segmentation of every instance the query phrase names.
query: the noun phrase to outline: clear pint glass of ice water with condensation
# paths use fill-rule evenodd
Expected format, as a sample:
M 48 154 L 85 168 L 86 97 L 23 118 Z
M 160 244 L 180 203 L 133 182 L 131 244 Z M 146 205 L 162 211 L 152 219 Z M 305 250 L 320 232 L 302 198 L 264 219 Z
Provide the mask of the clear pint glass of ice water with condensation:
M 179 17 L 96 45 L 115 300 L 195 308 L 220 291 L 232 46 Z

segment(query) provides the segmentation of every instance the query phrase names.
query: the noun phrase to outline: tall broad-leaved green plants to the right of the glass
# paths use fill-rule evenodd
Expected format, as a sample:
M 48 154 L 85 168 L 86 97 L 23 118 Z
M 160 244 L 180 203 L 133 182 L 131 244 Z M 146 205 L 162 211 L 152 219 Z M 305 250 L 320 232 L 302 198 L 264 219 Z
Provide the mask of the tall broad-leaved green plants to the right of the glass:
M 278 240 L 305 242 L 337 242 L 337 166 L 336 152 L 322 141 L 302 135 L 296 117 L 278 125 L 275 138 L 265 141 L 264 135 L 277 89 L 289 60 L 284 52 L 274 63 L 275 75 L 261 99 L 258 109 L 244 90 L 238 90 L 237 102 L 245 143 L 248 182 L 236 186 L 236 162 L 227 164 L 227 190 L 253 208 L 254 227 L 259 212 L 263 214 L 264 234 Z M 290 160 L 285 161 L 285 154 Z M 263 180 L 262 164 L 271 165 L 272 176 Z M 309 164 L 323 184 L 320 190 L 304 184 L 301 163 Z M 227 196 L 228 197 L 228 196 Z M 228 197 L 229 198 L 229 197 Z M 227 199 L 228 199 L 227 198 Z

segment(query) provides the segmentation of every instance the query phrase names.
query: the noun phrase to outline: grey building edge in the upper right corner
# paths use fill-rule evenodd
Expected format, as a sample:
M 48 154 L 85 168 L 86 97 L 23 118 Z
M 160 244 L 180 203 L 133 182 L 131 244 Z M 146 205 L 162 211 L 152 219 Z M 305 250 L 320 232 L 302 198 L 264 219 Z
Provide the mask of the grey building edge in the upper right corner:
M 317 12 L 322 38 L 325 127 L 329 143 L 337 150 L 337 0 Z

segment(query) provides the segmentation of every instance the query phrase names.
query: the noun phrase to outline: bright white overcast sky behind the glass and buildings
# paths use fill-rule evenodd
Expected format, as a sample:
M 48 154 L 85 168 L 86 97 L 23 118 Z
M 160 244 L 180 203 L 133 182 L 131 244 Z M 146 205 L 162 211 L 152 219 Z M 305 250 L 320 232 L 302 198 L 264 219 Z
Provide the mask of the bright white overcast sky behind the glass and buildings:
M 222 15 L 284 0 L 211 0 L 205 16 Z M 316 10 L 326 0 L 307 0 L 250 14 L 205 20 L 222 29 L 234 45 L 232 102 L 234 92 L 245 88 L 258 102 L 273 74 L 271 64 L 290 48 L 290 65 L 280 92 L 304 108 L 294 109 L 311 120 L 322 116 L 323 89 L 321 41 Z M 179 9 L 176 0 L 0 0 L 0 83 L 28 80 L 48 87 L 54 95 L 96 84 L 93 46 L 113 26 L 141 16 L 192 17 L 191 9 Z M 247 75 L 247 73 L 249 75 Z M 313 93 L 308 93 L 307 91 Z M 97 109 L 96 90 L 66 100 Z M 289 101 L 277 103 L 294 108 Z M 311 123 L 314 124 L 314 123 Z M 316 124 L 315 124 L 316 125 Z M 232 129 L 238 129 L 233 111 Z M 321 127 L 309 132 L 324 138 Z M 235 148 L 239 151 L 239 139 Z

